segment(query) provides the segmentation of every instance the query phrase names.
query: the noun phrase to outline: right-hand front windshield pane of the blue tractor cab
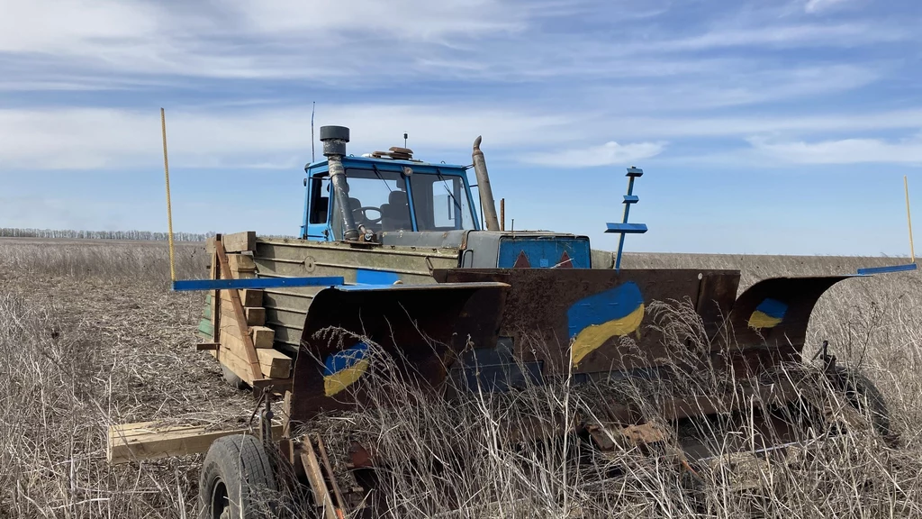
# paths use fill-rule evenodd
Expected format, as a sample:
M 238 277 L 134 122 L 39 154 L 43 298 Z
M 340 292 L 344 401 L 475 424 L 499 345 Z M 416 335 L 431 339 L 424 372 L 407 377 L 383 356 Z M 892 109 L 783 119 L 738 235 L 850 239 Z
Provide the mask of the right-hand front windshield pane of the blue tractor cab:
M 413 210 L 420 231 L 473 229 L 474 214 L 459 175 L 410 175 Z

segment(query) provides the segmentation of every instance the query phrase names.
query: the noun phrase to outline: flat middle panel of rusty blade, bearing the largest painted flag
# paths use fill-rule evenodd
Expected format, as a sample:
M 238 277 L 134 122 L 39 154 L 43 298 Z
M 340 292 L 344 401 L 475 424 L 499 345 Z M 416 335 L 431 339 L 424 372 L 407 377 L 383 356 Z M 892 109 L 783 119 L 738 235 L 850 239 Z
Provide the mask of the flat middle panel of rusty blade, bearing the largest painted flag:
M 739 283 L 739 272 L 700 270 L 452 269 L 433 275 L 445 283 L 509 284 L 500 335 L 514 339 L 516 358 L 540 362 L 545 376 L 656 368 L 670 352 L 649 326 L 649 304 L 688 301 L 716 329 Z

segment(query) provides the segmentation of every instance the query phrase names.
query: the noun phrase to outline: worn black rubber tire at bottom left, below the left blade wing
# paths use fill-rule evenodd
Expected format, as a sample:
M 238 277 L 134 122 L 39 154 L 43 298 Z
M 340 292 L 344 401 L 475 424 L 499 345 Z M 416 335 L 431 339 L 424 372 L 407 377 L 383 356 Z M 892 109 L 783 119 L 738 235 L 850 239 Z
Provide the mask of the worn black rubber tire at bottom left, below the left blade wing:
M 230 503 L 221 509 L 214 502 L 224 501 L 219 485 L 223 485 L 223 495 Z M 272 465 L 254 436 L 225 436 L 211 444 L 198 480 L 202 519 L 268 519 L 275 517 L 277 500 Z M 222 515 L 222 511 L 228 513 Z

